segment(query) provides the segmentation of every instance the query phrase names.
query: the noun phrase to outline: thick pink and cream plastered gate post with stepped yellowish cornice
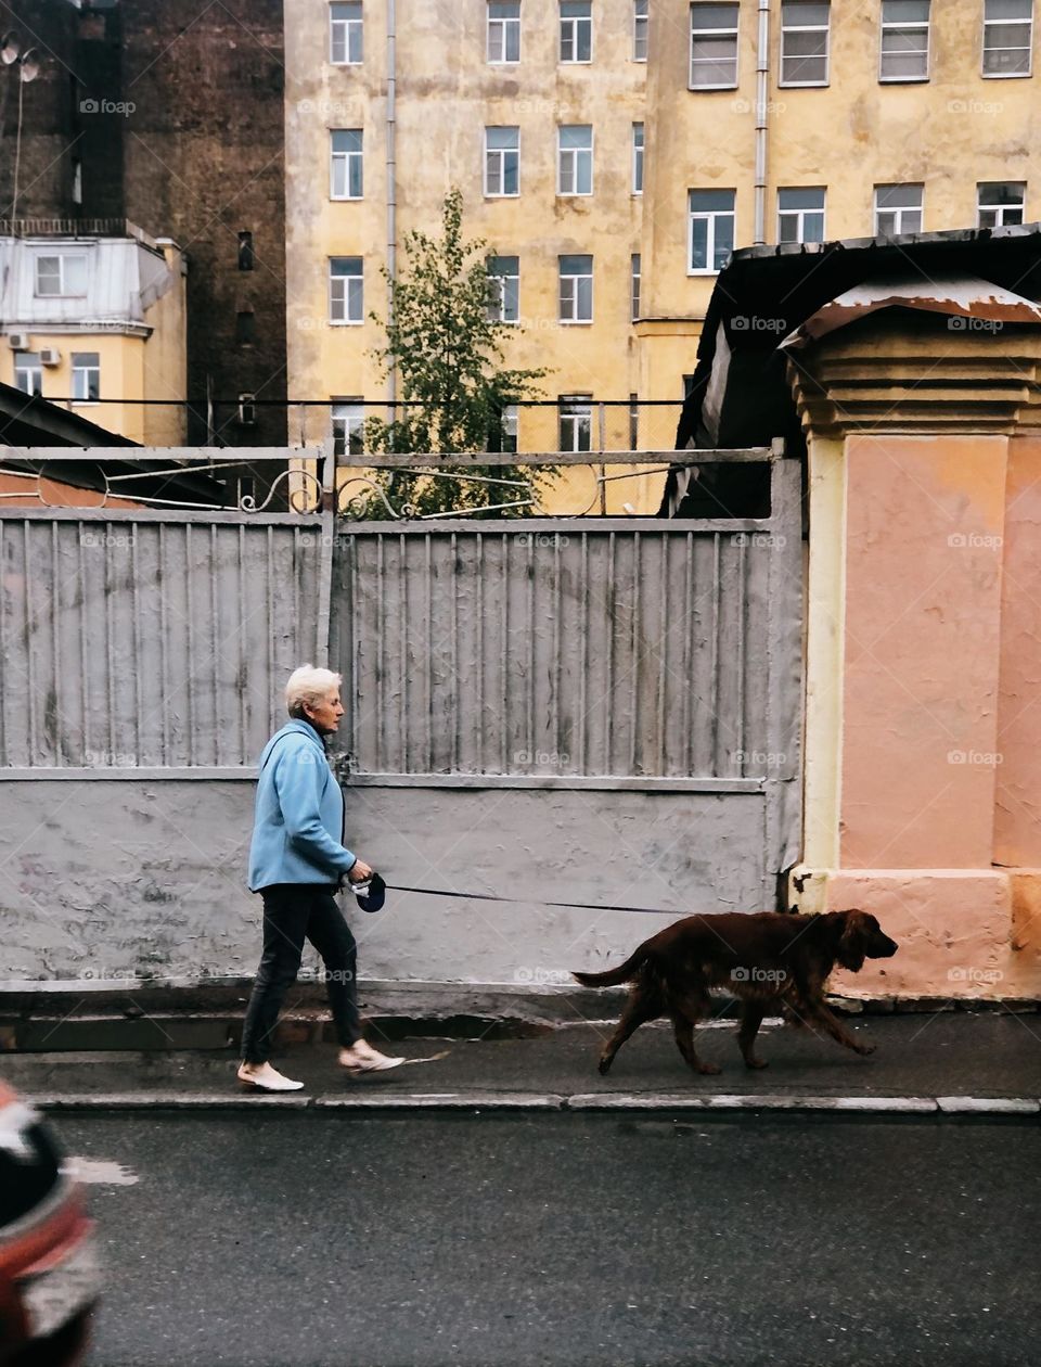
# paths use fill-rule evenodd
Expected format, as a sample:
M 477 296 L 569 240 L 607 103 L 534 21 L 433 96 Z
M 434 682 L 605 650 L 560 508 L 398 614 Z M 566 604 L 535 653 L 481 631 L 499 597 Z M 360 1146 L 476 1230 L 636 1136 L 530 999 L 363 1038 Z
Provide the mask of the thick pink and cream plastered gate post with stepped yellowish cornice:
M 1041 328 L 883 312 L 790 360 L 809 452 L 803 864 L 861 997 L 1041 997 Z M 1033 407 L 1033 411 L 1030 411 Z

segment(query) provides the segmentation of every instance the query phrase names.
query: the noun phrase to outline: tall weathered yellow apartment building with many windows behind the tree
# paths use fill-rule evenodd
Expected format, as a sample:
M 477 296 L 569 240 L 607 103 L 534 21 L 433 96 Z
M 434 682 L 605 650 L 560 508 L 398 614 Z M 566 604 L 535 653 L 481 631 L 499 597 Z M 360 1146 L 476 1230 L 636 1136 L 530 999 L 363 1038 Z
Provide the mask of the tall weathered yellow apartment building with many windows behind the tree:
M 507 364 L 560 401 L 520 411 L 529 451 L 671 447 L 734 246 L 1038 216 L 1031 0 L 294 0 L 286 25 L 288 388 L 343 444 L 393 396 L 381 272 L 451 186 L 508 278 Z

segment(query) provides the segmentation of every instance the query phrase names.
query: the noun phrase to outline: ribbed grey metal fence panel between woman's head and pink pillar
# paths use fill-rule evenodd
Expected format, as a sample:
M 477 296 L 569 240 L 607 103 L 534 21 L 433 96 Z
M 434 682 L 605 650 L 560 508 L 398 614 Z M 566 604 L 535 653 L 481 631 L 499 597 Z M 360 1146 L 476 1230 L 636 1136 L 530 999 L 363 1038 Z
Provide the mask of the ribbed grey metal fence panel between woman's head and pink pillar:
M 773 522 L 566 525 L 337 536 L 351 772 L 777 776 L 771 692 L 798 719 L 801 608 L 798 577 L 772 588 Z

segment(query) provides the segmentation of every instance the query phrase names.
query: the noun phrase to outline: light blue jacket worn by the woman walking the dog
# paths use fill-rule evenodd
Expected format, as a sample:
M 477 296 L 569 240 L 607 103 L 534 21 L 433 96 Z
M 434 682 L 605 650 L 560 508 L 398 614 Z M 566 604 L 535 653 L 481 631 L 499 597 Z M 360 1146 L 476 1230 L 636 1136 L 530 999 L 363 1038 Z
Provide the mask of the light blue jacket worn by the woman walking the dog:
M 343 838 L 343 793 L 321 735 L 309 722 L 287 722 L 264 746 L 249 886 L 336 883 L 354 864 Z

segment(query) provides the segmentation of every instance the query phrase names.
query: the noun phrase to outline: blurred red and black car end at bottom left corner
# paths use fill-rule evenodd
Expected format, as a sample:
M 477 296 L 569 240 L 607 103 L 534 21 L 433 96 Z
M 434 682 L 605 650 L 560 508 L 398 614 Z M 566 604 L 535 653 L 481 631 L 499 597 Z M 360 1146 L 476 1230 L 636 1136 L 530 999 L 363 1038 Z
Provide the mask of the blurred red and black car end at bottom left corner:
M 0 1083 L 0 1364 L 71 1367 L 98 1297 L 93 1225 L 40 1114 Z

